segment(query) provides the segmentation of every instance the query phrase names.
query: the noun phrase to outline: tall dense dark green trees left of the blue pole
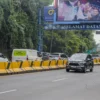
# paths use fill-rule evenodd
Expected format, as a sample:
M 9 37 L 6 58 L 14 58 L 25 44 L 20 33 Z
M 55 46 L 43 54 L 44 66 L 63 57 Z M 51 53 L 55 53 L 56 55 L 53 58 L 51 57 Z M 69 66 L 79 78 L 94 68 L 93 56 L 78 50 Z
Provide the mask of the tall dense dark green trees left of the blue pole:
M 0 0 L 0 51 L 37 48 L 39 1 Z

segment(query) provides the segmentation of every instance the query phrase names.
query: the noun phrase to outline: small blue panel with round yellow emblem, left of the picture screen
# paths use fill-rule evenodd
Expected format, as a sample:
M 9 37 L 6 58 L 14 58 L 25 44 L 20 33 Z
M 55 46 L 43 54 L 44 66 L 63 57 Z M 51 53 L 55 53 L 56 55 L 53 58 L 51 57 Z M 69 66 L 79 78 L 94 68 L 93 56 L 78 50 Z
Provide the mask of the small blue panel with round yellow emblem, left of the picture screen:
M 44 21 L 53 21 L 55 8 L 53 6 L 44 7 Z

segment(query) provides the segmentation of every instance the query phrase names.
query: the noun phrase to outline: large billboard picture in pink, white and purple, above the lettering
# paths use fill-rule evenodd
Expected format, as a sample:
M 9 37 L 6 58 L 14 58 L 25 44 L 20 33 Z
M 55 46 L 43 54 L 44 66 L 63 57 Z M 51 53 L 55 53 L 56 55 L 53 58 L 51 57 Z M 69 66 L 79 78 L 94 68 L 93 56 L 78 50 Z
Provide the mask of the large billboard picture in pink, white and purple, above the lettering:
M 57 22 L 100 23 L 100 0 L 56 0 Z M 65 24 L 65 23 L 64 23 Z M 70 24 L 70 23 L 69 23 Z

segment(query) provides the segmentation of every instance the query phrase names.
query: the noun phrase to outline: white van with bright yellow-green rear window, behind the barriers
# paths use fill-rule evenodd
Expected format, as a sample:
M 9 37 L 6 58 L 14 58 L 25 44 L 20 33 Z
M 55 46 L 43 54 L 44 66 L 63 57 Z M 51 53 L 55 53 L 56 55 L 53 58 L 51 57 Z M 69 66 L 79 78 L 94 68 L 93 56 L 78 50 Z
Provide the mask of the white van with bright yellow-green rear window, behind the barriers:
M 33 49 L 14 49 L 12 52 L 12 61 L 41 60 L 37 50 Z

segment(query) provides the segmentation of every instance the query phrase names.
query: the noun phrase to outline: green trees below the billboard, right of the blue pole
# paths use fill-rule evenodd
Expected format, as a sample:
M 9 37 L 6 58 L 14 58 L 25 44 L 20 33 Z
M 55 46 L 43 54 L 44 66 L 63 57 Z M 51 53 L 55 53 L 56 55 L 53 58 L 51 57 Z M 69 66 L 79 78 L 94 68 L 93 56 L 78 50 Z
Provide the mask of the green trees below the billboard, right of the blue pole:
M 52 48 L 52 52 L 65 52 L 71 55 L 76 52 L 85 52 L 94 46 L 95 41 L 92 31 L 70 30 L 44 32 L 44 50 L 48 52 Z

